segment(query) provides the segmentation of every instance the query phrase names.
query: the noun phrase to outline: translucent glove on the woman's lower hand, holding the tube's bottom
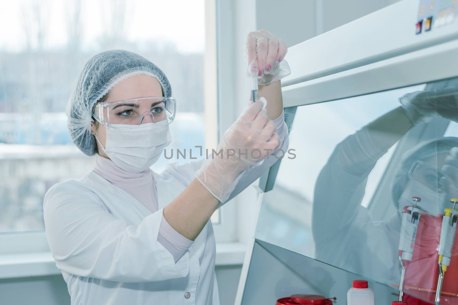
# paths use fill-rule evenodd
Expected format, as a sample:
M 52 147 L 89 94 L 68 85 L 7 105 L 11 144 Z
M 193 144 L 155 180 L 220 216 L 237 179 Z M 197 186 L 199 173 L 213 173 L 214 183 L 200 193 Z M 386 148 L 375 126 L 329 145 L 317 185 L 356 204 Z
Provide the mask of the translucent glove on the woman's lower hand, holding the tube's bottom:
M 250 104 L 224 133 L 213 158 L 196 171 L 196 178 L 220 202 L 229 198 L 246 170 L 261 164 L 280 144 L 265 110 L 266 99 Z

